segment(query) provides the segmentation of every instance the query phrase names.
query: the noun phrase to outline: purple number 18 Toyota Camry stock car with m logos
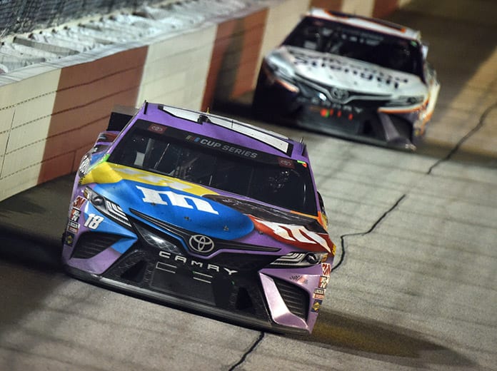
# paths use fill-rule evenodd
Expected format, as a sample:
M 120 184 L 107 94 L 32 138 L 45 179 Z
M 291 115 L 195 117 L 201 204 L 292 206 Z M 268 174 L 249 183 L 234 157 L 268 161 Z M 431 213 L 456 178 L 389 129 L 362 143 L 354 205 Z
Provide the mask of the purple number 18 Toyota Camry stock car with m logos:
M 313 329 L 336 249 L 305 144 L 154 103 L 111 113 L 63 241 L 76 278 L 298 333 Z

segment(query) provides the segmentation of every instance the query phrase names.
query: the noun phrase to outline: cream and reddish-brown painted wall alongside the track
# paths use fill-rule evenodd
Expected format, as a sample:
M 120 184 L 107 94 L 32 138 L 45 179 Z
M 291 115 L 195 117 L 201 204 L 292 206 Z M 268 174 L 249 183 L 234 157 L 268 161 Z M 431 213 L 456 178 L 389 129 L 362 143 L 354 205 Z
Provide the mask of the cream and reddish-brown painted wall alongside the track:
M 0 75 L 0 200 L 76 171 L 116 104 L 205 111 L 251 91 L 263 55 L 310 6 L 386 16 L 406 0 L 270 0 L 182 34 Z

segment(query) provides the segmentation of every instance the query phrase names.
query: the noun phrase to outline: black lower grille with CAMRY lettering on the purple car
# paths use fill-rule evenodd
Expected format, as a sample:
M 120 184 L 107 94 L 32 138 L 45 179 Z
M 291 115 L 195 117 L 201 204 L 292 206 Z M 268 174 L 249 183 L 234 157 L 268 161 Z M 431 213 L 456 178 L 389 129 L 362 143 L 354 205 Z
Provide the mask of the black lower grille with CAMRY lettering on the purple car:
M 266 256 L 221 253 L 207 260 L 164 250 L 162 253 L 166 255 L 161 257 L 160 251 L 137 242 L 104 273 L 104 277 L 268 320 L 257 273 L 266 265 Z M 228 270 L 236 273 L 229 275 Z

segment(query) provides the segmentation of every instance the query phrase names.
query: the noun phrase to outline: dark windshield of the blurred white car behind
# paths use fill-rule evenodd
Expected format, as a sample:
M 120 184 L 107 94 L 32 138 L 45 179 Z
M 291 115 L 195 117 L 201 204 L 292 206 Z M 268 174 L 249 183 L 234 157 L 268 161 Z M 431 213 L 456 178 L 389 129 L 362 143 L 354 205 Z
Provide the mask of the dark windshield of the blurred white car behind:
M 368 29 L 306 17 L 283 44 L 346 56 L 422 77 L 423 57 L 417 41 Z

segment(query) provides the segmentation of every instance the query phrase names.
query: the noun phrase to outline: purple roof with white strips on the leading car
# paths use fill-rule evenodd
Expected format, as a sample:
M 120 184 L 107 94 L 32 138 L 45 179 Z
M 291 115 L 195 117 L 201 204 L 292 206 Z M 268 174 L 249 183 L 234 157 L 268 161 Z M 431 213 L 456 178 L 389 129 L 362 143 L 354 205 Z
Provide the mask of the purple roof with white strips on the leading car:
M 187 108 L 146 102 L 140 108 L 135 117 L 167 126 L 174 122 L 166 120 L 162 114 L 158 114 L 159 112 L 168 113 L 174 119 L 179 119 L 183 123 L 188 121 L 189 123 L 196 123 L 197 125 L 201 124 L 202 126 L 217 126 L 229 129 L 230 131 L 239 133 L 242 136 L 258 141 L 262 146 L 266 145 L 281 154 L 284 153 L 288 157 L 308 158 L 306 145 L 303 141 L 294 141 L 293 139 L 283 136 L 280 133 L 269 131 L 258 126 L 253 126 L 249 123 L 236 121 L 232 118 L 218 116 L 209 112 L 194 111 Z M 196 132 L 199 133 L 201 131 L 196 130 Z

